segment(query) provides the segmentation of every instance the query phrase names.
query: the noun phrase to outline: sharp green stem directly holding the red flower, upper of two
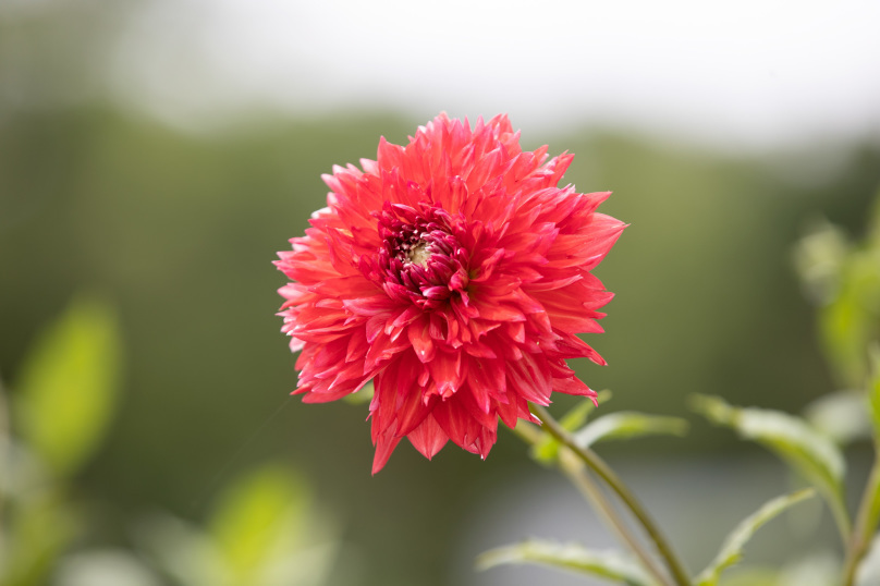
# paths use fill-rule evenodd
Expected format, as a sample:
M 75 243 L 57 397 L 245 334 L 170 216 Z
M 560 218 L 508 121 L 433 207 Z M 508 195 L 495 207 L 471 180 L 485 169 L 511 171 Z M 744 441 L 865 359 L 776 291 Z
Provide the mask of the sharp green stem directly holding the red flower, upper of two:
M 630 509 L 636 520 L 641 524 L 645 533 L 648 535 L 653 546 L 657 548 L 658 553 L 665 562 L 672 577 L 677 586 L 690 586 L 690 578 L 684 564 L 679 560 L 679 557 L 670 547 L 665 537 L 660 533 L 660 528 L 648 515 L 648 512 L 638 502 L 635 496 L 630 491 L 626 485 L 618 477 L 611 467 L 599 455 L 589 448 L 582 448 L 575 443 L 574 438 L 566 431 L 559 423 L 550 415 L 546 408 L 540 405 L 531 405 L 535 414 L 543 423 L 547 432 L 553 436 L 560 443 L 574 452 L 590 469 L 592 469 L 599 477 L 604 480 L 608 486 L 613 490 L 623 503 Z

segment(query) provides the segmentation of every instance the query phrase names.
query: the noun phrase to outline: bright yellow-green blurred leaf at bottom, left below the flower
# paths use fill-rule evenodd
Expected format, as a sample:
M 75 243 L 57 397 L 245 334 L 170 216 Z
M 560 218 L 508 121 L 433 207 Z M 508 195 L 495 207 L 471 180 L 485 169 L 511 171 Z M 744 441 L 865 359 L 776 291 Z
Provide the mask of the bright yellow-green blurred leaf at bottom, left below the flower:
M 302 541 L 311 499 L 288 468 L 267 465 L 237 480 L 221 497 L 210 535 L 231 572 L 243 583 L 259 573 L 283 545 Z

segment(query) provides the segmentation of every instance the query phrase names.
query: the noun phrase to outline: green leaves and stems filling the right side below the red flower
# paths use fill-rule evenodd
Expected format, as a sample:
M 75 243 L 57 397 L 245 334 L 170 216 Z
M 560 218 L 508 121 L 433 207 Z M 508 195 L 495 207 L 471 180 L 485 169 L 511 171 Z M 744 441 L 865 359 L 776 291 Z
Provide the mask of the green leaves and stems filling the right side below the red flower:
M 876 205 L 880 206 L 880 193 Z M 870 586 L 880 575 L 880 224 L 872 221 L 864 241 L 846 245 L 845 232 L 830 224 L 805 236 L 795 259 L 800 277 L 820 307 L 818 334 L 829 366 L 847 384 L 809 405 L 806 418 L 758 407 L 731 406 L 719 396 L 694 394 L 690 407 L 713 424 L 734 429 L 774 452 L 792 471 L 814 488 L 768 501 L 729 534 L 713 560 L 692 577 L 674 553 L 668 538 L 645 512 L 638 499 L 625 487 L 591 444 L 602 439 L 634 439 L 646 435 L 681 435 L 686 422 L 638 412 L 616 412 L 589 423 L 594 403 L 580 404 L 557 423 L 542 407 L 533 405 L 540 426 L 522 423 L 515 432 L 531 447 L 531 456 L 542 465 L 558 468 L 578 488 L 606 522 L 626 551 L 597 551 L 578 544 L 526 540 L 482 553 L 477 566 L 490 569 L 506 564 L 542 564 L 555 570 L 599 576 L 627 586 L 718 586 L 747 584 L 768 586 Z M 603 391 L 607 395 L 607 391 Z M 607 399 L 600 398 L 600 399 Z M 586 425 L 585 425 L 586 424 Z M 841 430 L 851 428 L 850 431 Z M 861 487 L 859 504 L 851 512 L 847 493 L 847 463 L 842 447 L 864 437 L 873 437 L 873 463 Z M 594 477 L 595 475 L 595 477 Z M 599 486 L 602 483 L 602 486 Z M 602 492 L 602 487 L 628 509 L 639 528 L 655 546 L 648 551 L 633 535 L 626 520 Z M 840 534 L 840 551 L 828 550 L 821 564 L 806 558 L 789 567 L 760 569 L 731 578 L 725 573 L 744 557 L 745 546 L 767 522 L 818 491 L 824 498 Z M 723 505 L 716 503 L 714 511 Z M 707 523 L 711 527 L 712 522 Z M 701 535 L 706 527 L 688 528 Z M 814 546 L 815 547 L 815 546 Z M 665 567 L 659 567 L 662 561 Z

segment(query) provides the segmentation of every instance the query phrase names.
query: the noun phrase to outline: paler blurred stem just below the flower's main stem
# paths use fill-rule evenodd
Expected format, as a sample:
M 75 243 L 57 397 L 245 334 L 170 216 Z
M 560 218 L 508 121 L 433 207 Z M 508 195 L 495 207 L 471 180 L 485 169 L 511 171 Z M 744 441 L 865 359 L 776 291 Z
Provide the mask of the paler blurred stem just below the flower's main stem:
M 531 445 L 538 445 L 543 438 L 543 434 L 538 431 L 538 428 L 531 426 L 530 424 L 521 423 L 513 429 L 513 431 L 524 441 L 526 441 L 526 443 Z M 641 561 L 645 570 L 651 574 L 651 576 L 653 576 L 658 584 L 662 584 L 663 586 L 672 586 L 662 567 L 657 564 L 655 559 L 645 549 L 641 542 L 639 542 L 635 535 L 633 535 L 630 527 L 620 517 L 611 502 L 609 502 L 609 500 L 602 493 L 601 489 L 589 477 L 583 462 L 580 462 L 580 460 L 577 459 L 577 456 L 565 447 L 560 449 L 559 467 L 562 473 L 572 481 L 575 488 L 577 488 L 580 493 L 584 495 L 587 501 L 592 504 L 594 509 L 598 512 L 602 521 L 604 521 L 606 525 L 636 554 L 636 557 Z

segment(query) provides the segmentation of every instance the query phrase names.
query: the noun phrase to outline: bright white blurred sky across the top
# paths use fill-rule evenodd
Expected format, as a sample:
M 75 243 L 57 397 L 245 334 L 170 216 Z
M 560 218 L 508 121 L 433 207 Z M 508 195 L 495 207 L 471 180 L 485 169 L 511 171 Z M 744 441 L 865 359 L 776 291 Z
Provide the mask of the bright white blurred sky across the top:
M 878 0 L 161 0 L 119 95 L 184 126 L 378 107 L 725 148 L 880 137 Z

